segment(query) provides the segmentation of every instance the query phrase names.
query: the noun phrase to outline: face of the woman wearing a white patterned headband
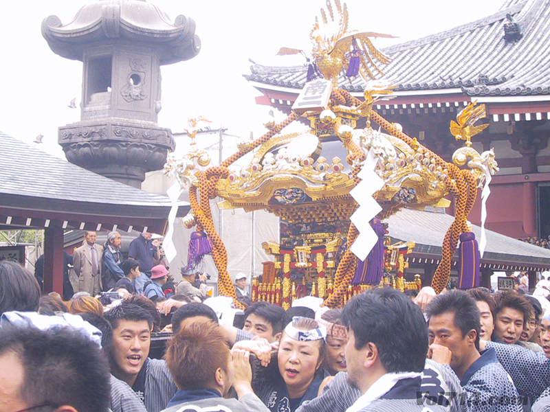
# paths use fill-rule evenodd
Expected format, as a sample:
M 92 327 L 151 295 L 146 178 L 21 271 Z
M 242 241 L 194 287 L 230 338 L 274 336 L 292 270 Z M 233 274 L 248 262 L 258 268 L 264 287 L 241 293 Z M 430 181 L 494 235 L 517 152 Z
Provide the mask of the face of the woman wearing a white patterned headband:
M 287 387 L 307 388 L 320 366 L 318 341 L 296 341 L 283 332 L 277 359 Z

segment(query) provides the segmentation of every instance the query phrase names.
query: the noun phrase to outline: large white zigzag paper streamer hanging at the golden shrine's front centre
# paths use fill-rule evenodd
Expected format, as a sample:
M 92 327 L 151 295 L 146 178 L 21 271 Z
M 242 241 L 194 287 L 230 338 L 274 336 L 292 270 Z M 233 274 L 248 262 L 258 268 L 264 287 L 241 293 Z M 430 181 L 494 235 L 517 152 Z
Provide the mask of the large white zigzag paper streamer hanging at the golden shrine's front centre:
M 357 227 L 359 236 L 349 250 L 360 260 L 366 259 L 378 240 L 378 236 L 369 225 L 372 218 L 382 210 L 382 207 L 373 198 L 373 194 L 384 186 L 384 181 L 375 172 L 377 162 L 373 150 L 369 150 L 365 163 L 358 174 L 362 181 L 349 192 L 359 205 L 350 218 L 353 225 Z

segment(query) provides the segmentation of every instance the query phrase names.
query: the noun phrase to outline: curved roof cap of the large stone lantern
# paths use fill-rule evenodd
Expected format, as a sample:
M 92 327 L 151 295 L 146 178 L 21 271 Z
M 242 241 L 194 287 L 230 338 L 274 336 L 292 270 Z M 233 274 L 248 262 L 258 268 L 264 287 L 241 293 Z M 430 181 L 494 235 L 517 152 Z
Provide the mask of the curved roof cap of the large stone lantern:
M 58 16 L 49 16 L 42 34 L 55 54 L 80 61 L 89 45 L 109 41 L 151 47 L 160 65 L 193 58 L 201 48 L 195 21 L 180 14 L 172 23 L 165 12 L 144 0 L 99 0 L 84 5 L 65 25 Z

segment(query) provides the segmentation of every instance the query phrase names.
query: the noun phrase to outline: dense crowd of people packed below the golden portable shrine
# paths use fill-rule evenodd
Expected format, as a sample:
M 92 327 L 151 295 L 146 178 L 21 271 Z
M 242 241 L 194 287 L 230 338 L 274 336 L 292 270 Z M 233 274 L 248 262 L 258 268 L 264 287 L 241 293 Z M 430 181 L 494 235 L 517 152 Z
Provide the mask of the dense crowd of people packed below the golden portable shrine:
M 117 261 L 115 301 L 42 295 L 0 262 L 0 412 L 550 411 L 545 297 L 373 288 L 341 309 L 248 301 L 236 328 L 203 301 L 203 275 L 184 270 L 168 297 L 166 266 Z

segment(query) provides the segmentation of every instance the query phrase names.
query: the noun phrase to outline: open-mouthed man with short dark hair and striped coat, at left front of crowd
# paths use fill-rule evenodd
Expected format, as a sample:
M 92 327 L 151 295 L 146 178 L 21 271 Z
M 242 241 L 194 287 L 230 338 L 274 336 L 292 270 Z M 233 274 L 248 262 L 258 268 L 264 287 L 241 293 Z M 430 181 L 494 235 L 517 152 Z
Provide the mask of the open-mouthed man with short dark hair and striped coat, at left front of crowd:
M 113 328 L 110 351 L 113 375 L 132 387 L 147 412 L 162 411 L 177 388 L 166 363 L 148 358 L 153 328 L 151 314 L 123 301 L 104 317 Z

